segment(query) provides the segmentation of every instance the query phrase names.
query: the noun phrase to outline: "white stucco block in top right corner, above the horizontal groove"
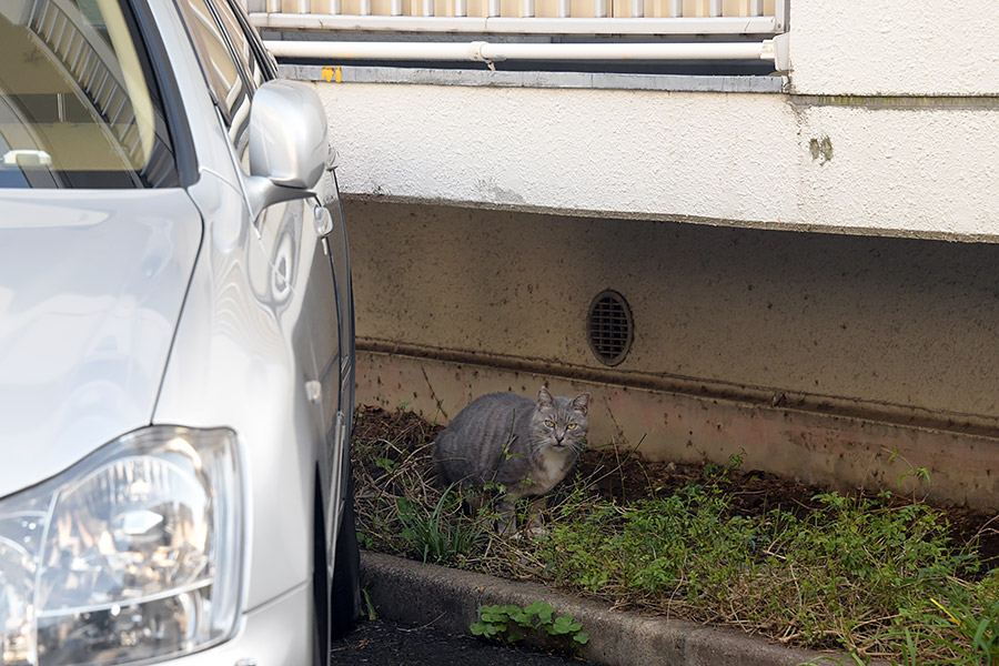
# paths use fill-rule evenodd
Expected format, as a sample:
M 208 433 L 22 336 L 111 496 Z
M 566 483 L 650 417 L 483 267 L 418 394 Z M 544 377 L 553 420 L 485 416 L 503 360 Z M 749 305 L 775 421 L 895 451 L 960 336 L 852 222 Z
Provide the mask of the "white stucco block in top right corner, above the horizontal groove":
M 793 90 L 999 93 L 999 21 L 980 2 L 791 0 Z

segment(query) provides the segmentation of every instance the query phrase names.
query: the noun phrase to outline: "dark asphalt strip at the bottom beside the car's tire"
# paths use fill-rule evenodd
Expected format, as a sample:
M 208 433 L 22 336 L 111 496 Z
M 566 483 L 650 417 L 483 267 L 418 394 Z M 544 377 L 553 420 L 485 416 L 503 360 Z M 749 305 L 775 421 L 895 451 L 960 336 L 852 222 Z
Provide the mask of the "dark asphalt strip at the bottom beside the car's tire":
M 366 666 L 562 666 L 586 662 L 487 644 L 431 626 L 364 620 L 332 648 L 332 664 Z

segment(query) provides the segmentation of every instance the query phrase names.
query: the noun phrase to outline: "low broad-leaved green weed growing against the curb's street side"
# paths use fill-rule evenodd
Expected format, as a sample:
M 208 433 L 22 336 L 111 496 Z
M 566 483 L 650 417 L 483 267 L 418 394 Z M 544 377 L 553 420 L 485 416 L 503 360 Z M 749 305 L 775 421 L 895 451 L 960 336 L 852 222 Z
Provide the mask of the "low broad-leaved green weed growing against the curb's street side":
M 541 601 L 525 608 L 514 605 L 480 606 L 478 622 L 468 628 L 473 635 L 487 640 L 514 645 L 531 638 L 539 645 L 568 654 L 575 654 L 589 642 L 589 635 L 572 615 L 555 617 L 555 609 Z

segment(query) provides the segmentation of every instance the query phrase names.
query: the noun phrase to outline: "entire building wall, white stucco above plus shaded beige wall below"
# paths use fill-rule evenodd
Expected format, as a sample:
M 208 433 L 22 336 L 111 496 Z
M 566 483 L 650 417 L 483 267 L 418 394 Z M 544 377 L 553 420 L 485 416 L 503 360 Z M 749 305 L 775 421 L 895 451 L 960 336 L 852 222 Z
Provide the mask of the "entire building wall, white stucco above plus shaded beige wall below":
M 892 490 L 926 467 L 938 497 L 993 505 L 999 22 L 983 17 L 793 0 L 783 87 L 386 83 L 391 68 L 315 83 L 353 199 L 359 395 L 446 421 L 547 380 L 594 391 L 595 436 L 653 457 L 745 447 L 805 481 Z M 636 330 L 613 371 L 584 334 L 608 287 Z

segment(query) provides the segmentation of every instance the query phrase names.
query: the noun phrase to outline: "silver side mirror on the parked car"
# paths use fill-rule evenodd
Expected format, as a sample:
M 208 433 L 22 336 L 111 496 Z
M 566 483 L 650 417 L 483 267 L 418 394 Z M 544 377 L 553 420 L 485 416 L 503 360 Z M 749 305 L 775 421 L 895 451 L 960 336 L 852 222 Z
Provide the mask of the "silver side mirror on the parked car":
M 311 195 L 326 167 L 326 112 L 311 87 L 283 79 L 256 90 L 250 108 L 250 178 L 254 215 Z

